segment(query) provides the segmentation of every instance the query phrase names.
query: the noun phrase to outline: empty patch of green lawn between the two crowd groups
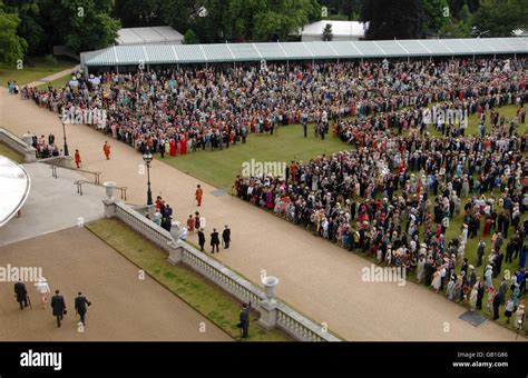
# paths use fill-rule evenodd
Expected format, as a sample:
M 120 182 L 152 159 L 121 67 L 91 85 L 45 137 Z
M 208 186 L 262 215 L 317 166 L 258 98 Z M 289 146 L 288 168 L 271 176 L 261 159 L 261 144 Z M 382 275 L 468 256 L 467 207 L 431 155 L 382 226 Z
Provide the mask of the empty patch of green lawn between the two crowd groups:
M 321 140 L 314 138 L 313 126 L 310 125 L 307 138 L 304 138 L 300 125 L 290 125 L 280 127 L 278 136 L 250 135 L 245 145 L 231 145 L 222 151 L 198 150 L 174 158 L 165 155 L 165 158 L 159 160 L 231 193 L 234 179 L 241 173 L 244 161 L 284 161 L 290 166 L 292 160 L 306 161 L 319 155 L 331 155 L 346 148 L 341 140 L 331 136 L 331 131 L 325 140 Z M 159 158 L 158 153 L 156 158 Z

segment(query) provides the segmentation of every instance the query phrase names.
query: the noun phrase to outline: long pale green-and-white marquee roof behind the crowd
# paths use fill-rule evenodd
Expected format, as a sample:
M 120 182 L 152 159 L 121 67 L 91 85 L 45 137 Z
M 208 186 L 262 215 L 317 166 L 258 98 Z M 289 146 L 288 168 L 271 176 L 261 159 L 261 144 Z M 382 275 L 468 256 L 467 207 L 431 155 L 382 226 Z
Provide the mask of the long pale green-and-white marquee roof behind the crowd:
M 528 38 L 114 46 L 81 53 L 81 66 L 187 64 L 528 53 Z

